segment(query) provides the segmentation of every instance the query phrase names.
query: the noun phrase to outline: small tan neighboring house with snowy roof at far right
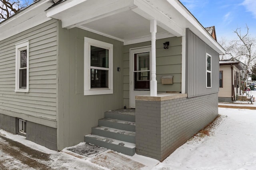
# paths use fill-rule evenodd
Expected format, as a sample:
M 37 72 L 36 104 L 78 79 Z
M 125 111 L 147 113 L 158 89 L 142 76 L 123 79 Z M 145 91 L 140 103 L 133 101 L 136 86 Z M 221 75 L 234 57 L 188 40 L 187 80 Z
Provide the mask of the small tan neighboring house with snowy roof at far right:
M 240 71 L 243 65 L 238 61 L 220 61 L 219 102 L 234 102 L 240 95 Z

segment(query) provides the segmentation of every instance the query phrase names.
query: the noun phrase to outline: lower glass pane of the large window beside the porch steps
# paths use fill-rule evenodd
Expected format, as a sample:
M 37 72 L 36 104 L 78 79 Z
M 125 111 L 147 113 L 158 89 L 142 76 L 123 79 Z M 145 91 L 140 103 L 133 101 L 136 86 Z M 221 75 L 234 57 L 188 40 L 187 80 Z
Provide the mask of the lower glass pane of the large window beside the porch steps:
M 108 88 L 108 70 L 91 69 L 91 88 Z

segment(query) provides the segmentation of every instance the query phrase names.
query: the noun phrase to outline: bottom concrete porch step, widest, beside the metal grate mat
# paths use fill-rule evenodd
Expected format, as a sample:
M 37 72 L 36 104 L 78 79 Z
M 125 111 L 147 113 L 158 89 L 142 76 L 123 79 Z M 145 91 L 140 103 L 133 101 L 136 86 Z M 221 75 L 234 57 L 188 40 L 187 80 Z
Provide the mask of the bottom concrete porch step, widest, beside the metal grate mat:
M 108 148 L 130 156 L 133 156 L 135 154 L 134 143 L 119 141 L 116 139 L 106 138 L 98 135 L 86 135 L 84 136 L 84 141 L 98 147 Z

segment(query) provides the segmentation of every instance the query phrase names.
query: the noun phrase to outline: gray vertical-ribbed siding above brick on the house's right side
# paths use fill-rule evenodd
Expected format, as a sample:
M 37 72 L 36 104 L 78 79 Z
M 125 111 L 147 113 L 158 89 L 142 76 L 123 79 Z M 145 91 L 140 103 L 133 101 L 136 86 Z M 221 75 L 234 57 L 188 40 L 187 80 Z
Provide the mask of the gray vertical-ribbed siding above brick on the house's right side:
M 212 56 L 212 87 L 206 86 L 206 53 Z M 186 29 L 186 93 L 188 97 L 219 91 L 219 54 Z

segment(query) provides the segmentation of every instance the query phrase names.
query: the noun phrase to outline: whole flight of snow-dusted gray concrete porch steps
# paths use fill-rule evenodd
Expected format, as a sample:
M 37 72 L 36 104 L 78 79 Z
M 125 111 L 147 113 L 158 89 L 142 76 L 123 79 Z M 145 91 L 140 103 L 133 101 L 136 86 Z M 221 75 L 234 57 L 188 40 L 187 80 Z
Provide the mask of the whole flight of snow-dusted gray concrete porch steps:
M 84 141 L 127 155 L 135 154 L 135 109 L 106 111 L 105 118 L 99 119 L 92 134 Z

